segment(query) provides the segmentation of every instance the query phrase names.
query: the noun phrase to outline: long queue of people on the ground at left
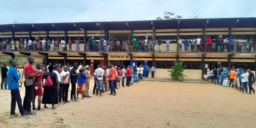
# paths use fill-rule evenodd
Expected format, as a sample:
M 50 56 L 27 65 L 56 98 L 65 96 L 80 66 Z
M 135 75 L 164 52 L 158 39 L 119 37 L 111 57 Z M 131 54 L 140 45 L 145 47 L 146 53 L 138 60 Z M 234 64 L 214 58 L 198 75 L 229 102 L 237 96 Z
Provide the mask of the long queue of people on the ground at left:
M 44 111 L 48 109 L 47 105 L 51 105 L 51 109 L 56 109 L 58 106 L 65 105 L 69 102 L 80 102 L 84 97 L 90 98 L 90 78 L 94 77 L 93 94 L 102 97 L 103 93 L 109 92 L 109 95 L 117 95 L 117 90 L 121 87 L 130 87 L 131 85 L 143 79 L 144 69 L 146 70 L 146 78 L 149 75 L 149 65 L 134 67 L 128 65 L 117 67 L 112 64 L 107 66 L 97 65 L 93 75 L 90 75 L 89 65 L 66 65 L 55 64 L 45 66 L 42 63 L 36 63 L 36 68 L 33 68 L 34 58 L 32 55 L 28 56 L 28 63 L 22 68 L 17 66 L 16 60 L 9 60 L 9 69 L 7 64 L 1 67 L 3 84 L 7 90 L 11 90 L 11 116 L 16 117 L 15 113 L 16 102 L 21 117 L 27 118 L 31 114 Z M 122 69 L 121 69 L 122 68 Z M 154 65 L 151 67 L 154 76 Z M 78 71 L 78 72 L 77 72 Z M 24 78 L 24 79 L 23 79 Z M 3 83 L 5 82 L 5 83 Z M 19 87 L 25 87 L 25 96 L 23 104 Z M 70 101 L 68 100 L 69 87 L 71 85 Z M 36 98 L 38 106 L 36 108 Z M 41 108 L 43 104 L 43 108 Z

